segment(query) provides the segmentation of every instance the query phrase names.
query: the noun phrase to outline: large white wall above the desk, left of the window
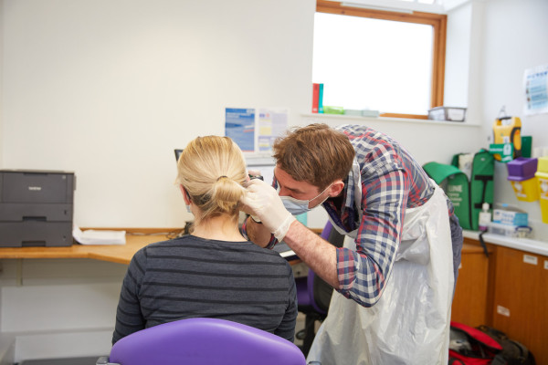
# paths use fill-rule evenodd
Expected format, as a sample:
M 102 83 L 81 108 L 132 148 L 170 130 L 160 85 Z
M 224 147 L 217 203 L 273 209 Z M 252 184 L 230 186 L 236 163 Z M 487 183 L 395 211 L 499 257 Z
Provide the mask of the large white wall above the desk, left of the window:
M 184 224 L 174 148 L 311 105 L 313 0 L 5 0 L 3 164 L 76 172 L 80 226 Z

